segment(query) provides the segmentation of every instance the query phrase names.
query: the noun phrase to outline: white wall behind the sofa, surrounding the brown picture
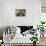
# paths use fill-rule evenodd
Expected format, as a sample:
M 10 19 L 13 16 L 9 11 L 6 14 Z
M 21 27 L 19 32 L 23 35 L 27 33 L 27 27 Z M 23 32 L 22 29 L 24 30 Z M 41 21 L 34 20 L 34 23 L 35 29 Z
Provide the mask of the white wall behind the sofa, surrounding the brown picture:
M 40 0 L 2 0 L 2 25 L 33 25 L 40 21 Z M 26 9 L 25 17 L 16 17 L 16 9 Z

